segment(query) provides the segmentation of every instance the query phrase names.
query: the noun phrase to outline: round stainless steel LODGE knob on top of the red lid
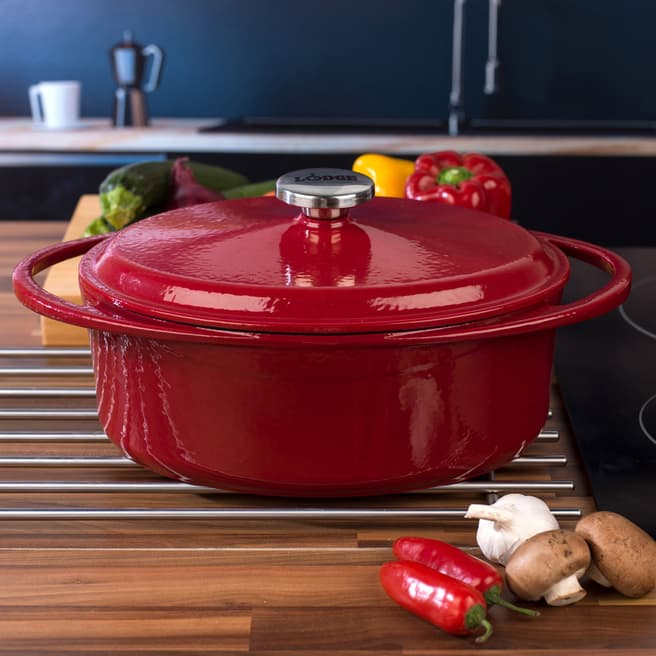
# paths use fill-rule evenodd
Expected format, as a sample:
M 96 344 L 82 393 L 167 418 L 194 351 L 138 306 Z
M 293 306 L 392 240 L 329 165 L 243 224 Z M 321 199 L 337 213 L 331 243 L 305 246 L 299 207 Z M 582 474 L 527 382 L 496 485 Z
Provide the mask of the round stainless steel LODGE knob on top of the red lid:
M 312 218 L 334 219 L 345 209 L 371 200 L 371 178 L 348 169 L 301 169 L 276 181 L 276 196 Z

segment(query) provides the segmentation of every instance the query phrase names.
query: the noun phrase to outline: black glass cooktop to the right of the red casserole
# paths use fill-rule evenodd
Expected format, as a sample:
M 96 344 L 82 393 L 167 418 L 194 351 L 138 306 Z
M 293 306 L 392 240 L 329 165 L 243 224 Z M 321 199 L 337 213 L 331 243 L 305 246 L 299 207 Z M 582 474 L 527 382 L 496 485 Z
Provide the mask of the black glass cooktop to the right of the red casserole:
M 556 375 L 600 510 L 656 537 L 656 249 L 618 248 L 633 268 L 622 307 L 561 328 Z M 607 279 L 574 262 L 567 298 Z

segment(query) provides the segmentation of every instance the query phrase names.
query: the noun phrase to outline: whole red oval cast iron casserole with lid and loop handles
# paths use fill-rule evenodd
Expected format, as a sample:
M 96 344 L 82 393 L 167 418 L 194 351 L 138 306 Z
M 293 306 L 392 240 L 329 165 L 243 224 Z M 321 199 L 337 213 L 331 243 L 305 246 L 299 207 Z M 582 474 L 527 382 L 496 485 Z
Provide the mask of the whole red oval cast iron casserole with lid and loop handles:
M 276 198 L 167 212 L 34 253 L 15 292 L 89 329 L 107 435 L 163 475 L 355 496 L 483 474 L 544 424 L 555 329 L 618 306 L 630 268 L 481 212 L 359 204 L 372 193 L 350 171 L 297 171 L 278 196 L 302 212 Z M 82 306 L 34 281 L 83 253 Z M 609 282 L 561 305 L 567 256 Z

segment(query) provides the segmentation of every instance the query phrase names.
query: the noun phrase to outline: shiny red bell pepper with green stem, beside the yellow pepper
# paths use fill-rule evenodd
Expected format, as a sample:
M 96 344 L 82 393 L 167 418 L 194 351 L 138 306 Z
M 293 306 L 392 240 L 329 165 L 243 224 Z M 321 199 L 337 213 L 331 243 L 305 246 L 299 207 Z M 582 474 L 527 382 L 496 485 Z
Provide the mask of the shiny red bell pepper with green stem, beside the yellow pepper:
M 405 195 L 510 218 L 510 180 L 495 161 L 478 153 L 443 150 L 420 155 Z

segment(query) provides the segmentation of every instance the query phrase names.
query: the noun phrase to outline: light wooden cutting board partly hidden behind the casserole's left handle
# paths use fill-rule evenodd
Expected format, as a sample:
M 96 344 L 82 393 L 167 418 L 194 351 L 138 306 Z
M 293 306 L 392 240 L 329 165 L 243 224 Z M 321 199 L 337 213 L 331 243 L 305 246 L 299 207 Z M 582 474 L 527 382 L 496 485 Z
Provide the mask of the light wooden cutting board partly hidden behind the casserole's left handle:
M 78 239 L 87 225 L 100 216 L 100 199 L 97 195 L 82 196 L 64 233 L 63 241 Z M 43 287 L 52 294 L 71 303 L 80 304 L 80 287 L 77 269 L 80 258 L 72 258 L 55 264 L 48 270 Z M 86 346 L 89 336 L 86 328 L 41 317 L 41 343 L 44 346 Z

